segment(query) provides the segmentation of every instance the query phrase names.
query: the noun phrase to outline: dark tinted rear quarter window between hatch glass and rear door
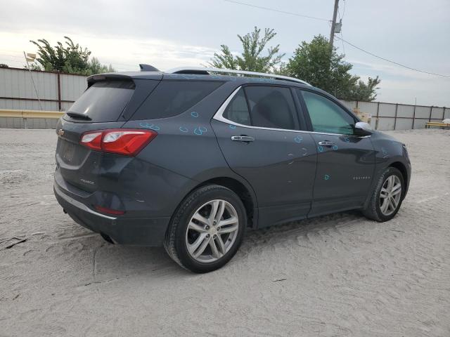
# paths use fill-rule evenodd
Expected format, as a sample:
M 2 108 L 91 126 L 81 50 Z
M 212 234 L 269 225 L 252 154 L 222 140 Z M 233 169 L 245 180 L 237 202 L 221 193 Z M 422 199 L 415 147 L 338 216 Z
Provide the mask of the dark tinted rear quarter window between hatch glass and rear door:
M 131 119 L 157 119 L 181 114 L 221 86 L 219 81 L 161 81 Z

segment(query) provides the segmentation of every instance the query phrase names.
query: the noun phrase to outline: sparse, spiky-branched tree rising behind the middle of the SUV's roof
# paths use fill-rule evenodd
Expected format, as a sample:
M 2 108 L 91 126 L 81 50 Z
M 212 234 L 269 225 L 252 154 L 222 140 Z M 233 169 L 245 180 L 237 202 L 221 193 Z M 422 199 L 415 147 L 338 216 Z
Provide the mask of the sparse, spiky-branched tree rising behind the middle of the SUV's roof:
M 250 72 L 275 72 L 276 66 L 281 62 L 285 54 L 278 54 L 280 45 L 267 48 L 267 55 L 262 56 L 266 44 L 275 37 L 274 29 L 265 28 L 264 37 L 260 37 L 261 29 L 255 27 L 253 32 L 241 37 L 238 34 L 240 43 L 243 46 L 243 53 L 233 55 L 229 46 L 221 45 L 220 53 L 214 53 L 209 65 L 217 68 L 227 68 L 233 70 L 247 70 Z M 278 54 L 278 55 L 277 55 Z

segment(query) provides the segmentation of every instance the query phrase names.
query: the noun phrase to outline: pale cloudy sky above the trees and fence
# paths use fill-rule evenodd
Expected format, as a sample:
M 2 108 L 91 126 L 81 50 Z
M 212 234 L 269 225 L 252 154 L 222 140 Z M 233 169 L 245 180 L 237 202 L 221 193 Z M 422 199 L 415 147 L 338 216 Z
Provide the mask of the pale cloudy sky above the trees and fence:
M 30 40 L 52 45 L 71 37 L 118 71 L 147 63 L 160 70 L 206 65 L 221 44 L 240 52 L 237 34 L 274 28 L 284 61 L 302 41 L 330 35 L 334 0 L 24 1 L 0 0 L 0 63 L 23 67 Z M 413 72 L 335 39 L 352 73 L 381 79 L 377 101 L 450 107 L 450 0 L 340 0 L 338 20 L 346 41 L 394 62 L 443 74 Z

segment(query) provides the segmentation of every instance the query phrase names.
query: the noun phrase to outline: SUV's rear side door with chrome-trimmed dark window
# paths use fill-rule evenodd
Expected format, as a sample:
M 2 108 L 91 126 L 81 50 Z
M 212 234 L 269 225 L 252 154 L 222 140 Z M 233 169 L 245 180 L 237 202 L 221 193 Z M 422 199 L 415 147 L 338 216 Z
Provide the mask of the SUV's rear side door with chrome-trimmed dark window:
M 229 166 L 255 190 L 259 227 L 305 218 L 311 207 L 316 145 L 299 132 L 294 95 L 285 86 L 240 87 L 212 119 Z

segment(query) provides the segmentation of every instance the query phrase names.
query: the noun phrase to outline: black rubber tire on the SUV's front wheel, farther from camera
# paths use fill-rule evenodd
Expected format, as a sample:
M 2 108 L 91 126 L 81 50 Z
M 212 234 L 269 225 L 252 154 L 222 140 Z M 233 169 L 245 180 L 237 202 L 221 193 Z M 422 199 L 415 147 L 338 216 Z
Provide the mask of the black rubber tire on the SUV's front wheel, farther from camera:
M 389 204 L 388 201 L 389 198 L 381 197 L 382 190 L 383 195 L 393 195 L 394 198 L 397 197 L 397 194 L 390 194 L 389 192 L 385 192 L 387 190 L 385 187 L 388 186 L 386 184 L 389 184 L 388 179 L 391 179 L 394 182 L 397 182 L 397 184 L 399 183 L 401 185 L 401 191 L 397 192 L 397 194 L 399 194 L 399 197 L 395 207 L 392 207 L 391 204 Z M 392 193 L 395 192 L 396 191 Z M 378 182 L 372 191 L 371 199 L 368 202 L 367 207 L 363 210 L 364 216 L 366 216 L 366 218 L 378 221 L 379 223 L 384 223 L 385 221 L 391 220 L 392 218 L 394 218 L 394 216 L 400 209 L 401 202 L 403 201 L 404 198 L 404 192 L 405 192 L 405 183 L 404 178 L 401 175 L 401 172 L 398 169 L 395 169 L 394 167 L 388 167 L 380 176 L 380 178 L 378 178 Z M 388 209 L 385 212 L 383 212 L 383 206 L 385 206 L 385 202 L 388 202 L 387 206 Z

